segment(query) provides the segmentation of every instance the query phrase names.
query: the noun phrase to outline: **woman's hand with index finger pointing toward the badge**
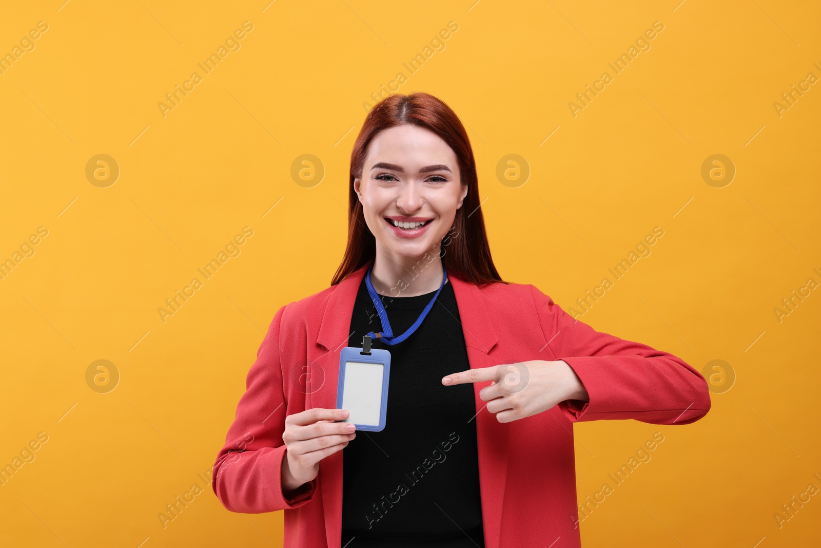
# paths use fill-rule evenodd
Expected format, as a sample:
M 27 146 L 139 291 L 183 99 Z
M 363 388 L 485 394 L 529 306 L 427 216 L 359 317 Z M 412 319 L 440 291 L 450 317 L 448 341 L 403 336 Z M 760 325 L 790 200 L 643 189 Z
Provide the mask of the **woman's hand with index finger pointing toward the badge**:
M 489 412 L 499 422 L 511 422 L 545 412 L 566 399 L 589 401 L 576 371 L 566 361 L 520 361 L 492 367 L 469 369 L 443 378 L 443 385 L 492 380 L 479 390 Z

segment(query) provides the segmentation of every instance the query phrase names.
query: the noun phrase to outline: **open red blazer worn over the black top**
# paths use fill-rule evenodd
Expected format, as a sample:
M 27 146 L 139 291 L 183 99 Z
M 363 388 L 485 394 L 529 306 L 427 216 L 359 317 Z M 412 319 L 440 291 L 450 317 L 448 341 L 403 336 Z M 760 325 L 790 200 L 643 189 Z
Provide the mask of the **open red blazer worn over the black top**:
M 227 509 L 285 510 L 285 546 L 341 544 L 344 449 L 320 461 L 319 476 L 287 500 L 281 486 L 282 432 L 287 415 L 336 408 L 339 353 L 348 344 L 354 300 L 367 268 L 282 306 L 273 316 L 213 466 L 212 487 Z M 533 285 L 479 288 L 448 279 L 471 368 L 561 359 L 579 375 L 590 398 L 501 423 L 479 398 L 479 389 L 490 381 L 474 384 L 486 546 L 579 547 L 573 423 L 688 424 L 710 408 L 707 382 L 679 357 L 574 320 Z

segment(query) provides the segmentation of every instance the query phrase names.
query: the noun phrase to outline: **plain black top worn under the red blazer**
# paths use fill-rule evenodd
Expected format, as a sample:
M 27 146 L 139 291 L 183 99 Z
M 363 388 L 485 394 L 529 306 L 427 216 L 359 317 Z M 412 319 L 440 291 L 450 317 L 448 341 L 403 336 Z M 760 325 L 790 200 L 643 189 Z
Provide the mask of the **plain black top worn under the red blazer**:
M 435 293 L 380 295 L 394 336 Z M 349 346 L 381 330 L 363 278 Z M 442 384 L 470 369 L 450 280 L 414 334 L 372 348 L 391 352 L 388 413 L 383 431 L 357 431 L 342 449 L 342 546 L 484 548 L 474 388 Z

